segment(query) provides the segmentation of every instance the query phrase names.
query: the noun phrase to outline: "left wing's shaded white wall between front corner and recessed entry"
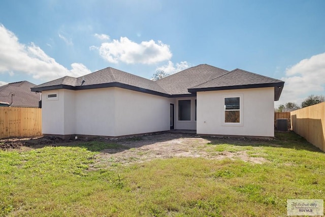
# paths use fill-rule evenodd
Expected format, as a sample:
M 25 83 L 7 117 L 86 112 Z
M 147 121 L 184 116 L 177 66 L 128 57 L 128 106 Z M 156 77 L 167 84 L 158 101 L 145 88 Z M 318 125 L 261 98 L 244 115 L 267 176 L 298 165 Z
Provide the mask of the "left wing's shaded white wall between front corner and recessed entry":
M 170 130 L 170 102 L 128 89 L 115 89 L 115 136 Z

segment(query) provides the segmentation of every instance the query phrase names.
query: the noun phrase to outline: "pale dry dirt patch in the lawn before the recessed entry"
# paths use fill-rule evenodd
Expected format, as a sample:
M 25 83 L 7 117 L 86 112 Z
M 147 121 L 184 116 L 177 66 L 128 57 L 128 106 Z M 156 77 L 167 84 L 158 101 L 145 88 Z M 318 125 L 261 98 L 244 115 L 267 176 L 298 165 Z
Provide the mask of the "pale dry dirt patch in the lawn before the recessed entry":
M 208 143 L 214 140 L 221 140 L 220 143 L 230 142 L 232 138 L 202 138 L 191 134 L 161 134 L 142 137 L 138 141 L 118 141 L 119 144 L 128 146 L 129 149 L 110 153 L 110 150 L 104 150 L 97 155 L 96 165 L 112 166 L 116 163 L 131 164 L 135 162 L 145 162 L 152 159 L 167 158 L 206 158 L 221 160 L 229 158 L 232 160 L 241 159 L 245 162 L 262 164 L 267 162 L 261 157 L 251 157 L 246 151 L 212 151 Z M 238 141 L 238 139 L 235 139 Z M 251 142 L 251 141 L 250 141 Z

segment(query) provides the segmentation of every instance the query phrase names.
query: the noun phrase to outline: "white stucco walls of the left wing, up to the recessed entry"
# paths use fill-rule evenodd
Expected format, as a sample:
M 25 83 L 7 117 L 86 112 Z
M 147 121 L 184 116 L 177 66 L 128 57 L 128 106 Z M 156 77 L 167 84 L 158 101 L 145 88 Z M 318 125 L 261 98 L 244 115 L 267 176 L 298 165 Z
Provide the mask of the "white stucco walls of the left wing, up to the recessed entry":
M 57 94 L 47 99 L 47 94 Z M 174 99 L 118 87 L 42 93 L 43 134 L 122 136 L 170 129 Z

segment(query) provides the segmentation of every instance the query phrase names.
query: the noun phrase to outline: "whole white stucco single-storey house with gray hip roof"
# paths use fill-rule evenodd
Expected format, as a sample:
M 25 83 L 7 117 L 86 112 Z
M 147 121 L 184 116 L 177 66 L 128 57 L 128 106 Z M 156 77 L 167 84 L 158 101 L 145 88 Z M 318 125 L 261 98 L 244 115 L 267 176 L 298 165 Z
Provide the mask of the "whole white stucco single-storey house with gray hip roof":
M 274 136 L 274 101 L 284 82 L 241 69 L 199 65 L 152 81 L 106 68 L 32 87 L 42 92 L 43 134 Z

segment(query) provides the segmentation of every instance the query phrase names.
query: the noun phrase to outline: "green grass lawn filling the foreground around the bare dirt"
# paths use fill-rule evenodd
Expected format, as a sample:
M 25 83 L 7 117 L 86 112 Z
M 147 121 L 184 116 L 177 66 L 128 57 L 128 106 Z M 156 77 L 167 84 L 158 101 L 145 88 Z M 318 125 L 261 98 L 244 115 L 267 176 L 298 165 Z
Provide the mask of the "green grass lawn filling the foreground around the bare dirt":
M 287 199 L 325 198 L 325 154 L 294 133 L 206 145 L 264 164 L 171 158 L 89 170 L 105 148 L 127 149 L 90 142 L 0 151 L 0 216 L 286 216 Z

